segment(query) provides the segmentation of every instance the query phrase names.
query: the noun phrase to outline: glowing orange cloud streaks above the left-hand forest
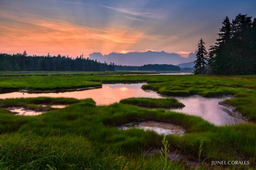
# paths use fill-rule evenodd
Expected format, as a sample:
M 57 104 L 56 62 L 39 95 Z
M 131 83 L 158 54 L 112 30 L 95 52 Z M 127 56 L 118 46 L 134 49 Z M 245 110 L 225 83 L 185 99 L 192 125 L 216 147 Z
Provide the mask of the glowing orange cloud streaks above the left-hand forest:
M 146 37 L 139 31 L 127 33 L 127 29 L 121 26 L 99 29 L 34 16 L 24 19 L 11 15 L 5 17 L 12 22 L 0 25 L 0 50 L 3 53 L 26 50 L 29 55 L 46 55 L 48 52 L 70 56 L 92 52 L 107 54 L 126 50 Z

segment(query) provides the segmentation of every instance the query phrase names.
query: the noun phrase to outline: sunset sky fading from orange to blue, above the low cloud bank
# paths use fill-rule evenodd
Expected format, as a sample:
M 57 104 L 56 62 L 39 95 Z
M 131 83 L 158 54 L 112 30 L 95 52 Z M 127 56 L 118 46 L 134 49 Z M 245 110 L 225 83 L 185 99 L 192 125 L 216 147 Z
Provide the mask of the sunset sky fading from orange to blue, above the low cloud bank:
M 0 0 L 0 53 L 89 56 L 216 42 L 225 16 L 256 17 L 255 0 Z

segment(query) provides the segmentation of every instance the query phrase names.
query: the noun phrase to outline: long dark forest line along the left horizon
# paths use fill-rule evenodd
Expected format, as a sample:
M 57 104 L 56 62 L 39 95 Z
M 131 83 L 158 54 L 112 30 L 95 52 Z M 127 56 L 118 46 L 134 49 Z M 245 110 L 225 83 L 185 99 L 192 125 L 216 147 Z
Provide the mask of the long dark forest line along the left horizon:
M 115 71 L 114 63 L 100 63 L 80 57 L 28 56 L 23 54 L 0 54 L 0 71 Z

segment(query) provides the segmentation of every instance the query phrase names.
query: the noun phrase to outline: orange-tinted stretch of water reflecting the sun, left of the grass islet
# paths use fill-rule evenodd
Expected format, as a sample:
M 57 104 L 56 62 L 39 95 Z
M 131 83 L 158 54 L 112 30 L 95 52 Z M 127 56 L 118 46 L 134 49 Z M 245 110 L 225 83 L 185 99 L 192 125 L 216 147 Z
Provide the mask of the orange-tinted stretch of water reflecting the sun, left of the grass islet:
M 151 90 L 145 91 L 141 89 L 144 83 L 138 84 L 103 84 L 102 88 L 82 90 L 82 91 L 66 91 L 66 92 L 50 92 L 50 93 L 27 93 L 12 92 L 0 94 L 0 99 L 8 98 L 36 98 L 47 96 L 52 98 L 76 98 L 87 99 L 92 98 L 97 105 L 110 105 L 117 103 L 126 98 L 161 98 L 159 94 Z

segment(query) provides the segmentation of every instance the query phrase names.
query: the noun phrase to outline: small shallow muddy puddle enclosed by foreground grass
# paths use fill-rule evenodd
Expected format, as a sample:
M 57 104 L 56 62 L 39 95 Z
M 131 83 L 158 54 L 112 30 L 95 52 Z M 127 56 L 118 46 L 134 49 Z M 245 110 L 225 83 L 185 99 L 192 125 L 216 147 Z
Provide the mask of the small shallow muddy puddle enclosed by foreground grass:
M 164 135 L 173 134 L 173 135 L 182 136 L 186 133 L 186 130 L 182 126 L 174 125 L 170 123 L 154 122 L 154 121 L 129 123 L 129 124 L 125 124 L 117 127 L 117 129 L 122 129 L 122 130 L 127 130 L 129 128 L 151 130 L 158 134 L 164 134 Z

